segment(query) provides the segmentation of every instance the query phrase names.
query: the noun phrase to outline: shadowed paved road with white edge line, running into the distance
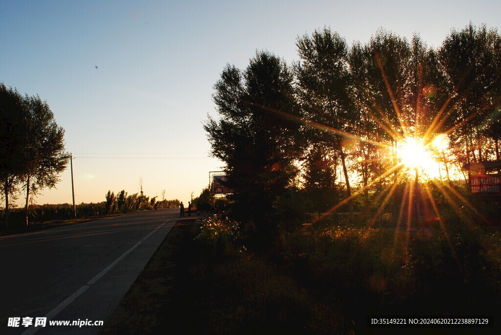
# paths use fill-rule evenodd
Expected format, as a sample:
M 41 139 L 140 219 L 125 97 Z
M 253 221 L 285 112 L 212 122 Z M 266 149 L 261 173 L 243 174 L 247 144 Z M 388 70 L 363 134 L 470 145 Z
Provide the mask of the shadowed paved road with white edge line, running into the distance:
M 179 218 L 162 209 L 0 238 L 0 333 L 96 334 Z M 9 318 L 19 317 L 19 326 Z M 46 327 L 23 319 L 47 317 Z M 12 320 L 12 319 L 11 319 Z

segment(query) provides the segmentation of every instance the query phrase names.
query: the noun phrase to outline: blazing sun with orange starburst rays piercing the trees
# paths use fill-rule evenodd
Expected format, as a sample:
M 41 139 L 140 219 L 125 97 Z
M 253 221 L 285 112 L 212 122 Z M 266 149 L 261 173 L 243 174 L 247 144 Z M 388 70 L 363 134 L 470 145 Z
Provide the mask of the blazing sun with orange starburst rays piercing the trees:
M 460 79 L 460 82 L 457 83 L 452 91 L 448 94 L 443 105 L 436 111 L 436 115 L 432 118 L 432 120 L 430 120 L 427 126 L 424 124 L 418 124 L 419 114 L 421 113 L 420 108 L 425 104 L 421 104 L 419 101 L 415 102 L 413 110 L 413 113 L 415 113 L 415 123 L 413 127 L 411 127 L 403 117 L 404 113 L 398 105 L 398 100 L 395 97 L 394 90 L 391 87 L 391 83 L 385 74 L 381 60 L 378 56 L 376 56 L 375 61 L 379 69 L 381 70 L 381 76 L 384 80 L 385 87 L 391 99 L 391 105 L 393 107 L 393 112 L 396 114 L 398 125 L 392 124 L 388 115 L 381 107 L 377 105 L 375 99 L 371 98 L 370 95 L 367 95 L 367 92 L 365 92 L 363 96 L 366 98 L 365 101 L 370 105 L 370 108 L 372 108 L 372 110 L 367 110 L 365 112 L 366 115 L 371 118 L 371 121 L 374 123 L 374 125 L 379 126 L 386 134 L 389 135 L 389 139 L 392 143 L 378 142 L 373 139 L 369 139 L 366 136 L 362 137 L 355 135 L 327 125 L 323 125 L 318 122 L 290 115 L 282 111 L 267 108 L 265 106 L 259 107 L 268 110 L 269 112 L 276 113 L 286 119 L 293 120 L 306 126 L 314 127 L 321 131 L 331 132 L 342 138 L 365 142 L 379 148 L 392 150 L 393 157 L 388 160 L 391 163 L 384 172 L 370 180 L 367 185 L 359 188 L 351 195 L 348 195 L 344 199 L 339 201 L 326 213 L 320 215 L 317 221 L 320 221 L 326 218 L 331 213 L 336 212 L 348 202 L 353 200 L 355 197 L 360 196 L 366 190 L 374 187 L 374 185 L 381 182 L 383 179 L 393 176 L 393 178 L 389 178 L 390 182 L 386 183 L 383 191 L 377 196 L 377 210 L 371 217 L 368 218 L 367 226 L 369 228 L 373 227 L 378 218 L 380 218 L 388 209 L 390 211 L 393 211 L 393 216 L 396 218 L 393 248 L 396 249 L 396 244 L 399 241 L 399 234 L 403 233 L 405 234 L 404 236 L 406 245 L 404 246 L 404 249 L 406 250 L 412 238 L 412 234 L 419 229 L 429 230 L 429 227 L 427 226 L 429 225 L 429 221 L 431 220 L 437 224 L 434 228 L 442 231 L 447 240 L 447 244 L 449 245 L 452 255 L 457 259 L 448 233 L 448 222 L 446 221 L 446 219 L 444 219 L 444 214 L 441 212 L 439 204 L 437 204 L 437 202 L 435 201 L 436 194 L 433 195 L 432 189 L 435 189 L 438 194 L 441 194 L 443 196 L 443 198 L 449 204 L 450 208 L 452 208 L 453 212 L 465 224 L 469 224 L 471 222 L 469 217 L 465 215 L 461 210 L 462 206 L 469 208 L 475 213 L 475 215 L 480 218 L 483 218 L 483 216 L 470 202 L 468 202 L 468 200 L 464 196 L 462 196 L 450 184 L 450 182 L 443 182 L 441 180 L 441 176 L 440 179 L 438 179 L 438 175 L 434 176 L 435 179 L 423 178 L 423 175 L 426 175 L 427 172 L 425 165 L 433 165 L 438 167 L 438 169 L 440 168 L 438 166 L 440 159 L 433 158 L 430 152 L 435 150 L 435 153 L 437 154 L 436 157 L 439 157 L 438 155 L 441 155 L 443 157 L 443 160 L 445 161 L 444 150 L 446 150 L 448 146 L 447 135 L 450 135 L 456 129 L 464 126 L 467 122 L 469 122 L 476 115 L 482 112 L 481 110 L 478 110 L 465 119 L 452 124 L 448 129 L 444 129 L 444 126 L 450 123 L 448 122 L 448 118 L 450 117 L 451 113 L 453 113 L 454 108 L 456 108 L 460 97 L 467 94 L 467 92 L 458 94 L 458 87 L 462 85 L 464 78 L 467 75 L 468 69 Z M 466 91 L 468 89 L 470 89 L 470 87 L 468 87 Z M 417 92 L 420 92 L 421 90 L 423 90 L 423 87 L 417 87 Z M 425 98 L 424 94 L 417 94 L 416 96 L 416 100 Z M 494 103 L 498 104 L 500 101 L 501 97 L 493 99 L 492 103 L 489 104 L 489 106 L 484 105 L 482 107 L 482 110 L 491 108 Z M 419 127 L 424 127 L 424 129 L 421 131 L 421 134 L 418 131 Z M 439 133 L 439 130 L 442 131 Z M 402 143 L 403 145 L 396 146 L 395 148 L 393 146 L 393 142 Z M 400 151 L 401 153 L 398 154 L 398 151 Z M 402 151 L 404 153 L 402 153 Z M 359 163 L 362 163 L 364 161 L 365 159 L 361 159 L 359 160 Z M 375 159 L 369 158 L 368 161 L 374 162 Z M 415 175 L 412 175 L 412 173 L 415 173 Z M 420 177 L 421 180 L 419 180 Z M 395 196 L 398 192 L 401 192 L 401 196 L 399 199 L 395 199 Z M 390 205 L 392 199 L 394 199 L 394 202 Z M 388 206 L 390 206 L 391 208 L 388 208 Z M 427 209 L 425 210 L 425 208 L 423 207 L 427 207 Z

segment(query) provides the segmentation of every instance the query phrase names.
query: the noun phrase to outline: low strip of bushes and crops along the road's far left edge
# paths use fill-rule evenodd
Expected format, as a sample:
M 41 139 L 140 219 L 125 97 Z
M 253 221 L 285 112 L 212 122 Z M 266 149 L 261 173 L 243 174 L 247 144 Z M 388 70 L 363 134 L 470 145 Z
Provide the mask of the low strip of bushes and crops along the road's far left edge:
M 76 205 L 77 218 L 90 218 L 103 215 L 130 213 L 139 210 L 150 210 L 156 208 L 176 208 L 179 207 L 179 200 L 156 201 L 156 197 L 149 198 L 141 193 L 127 195 L 125 190 L 115 194 L 108 191 L 106 201 L 98 203 L 81 203 Z M 0 212 L 0 219 L 4 220 L 5 213 Z M 30 222 L 47 222 L 53 220 L 70 220 L 74 218 L 73 205 L 71 204 L 45 204 L 31 205 L 29 212 Z M 15 228 L 25 223 L 25 208 L 14 208 L 9 213 L 9 227 Z

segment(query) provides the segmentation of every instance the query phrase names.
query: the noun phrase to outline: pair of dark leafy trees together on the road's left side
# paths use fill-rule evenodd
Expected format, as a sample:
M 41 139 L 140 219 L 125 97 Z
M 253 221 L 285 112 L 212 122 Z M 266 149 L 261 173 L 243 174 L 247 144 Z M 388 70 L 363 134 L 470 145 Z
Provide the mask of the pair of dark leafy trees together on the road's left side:
M 68 163 L 64 129 L 57 125 L 49 105 L 39 96 L 22 98 L 16 90 L 8 90 L 4 83 L 0 84 L 0 95 L 0 139 L 4 151 L 0 180 L 6 198 L 6 223 L 9 195 L 25 182 L 28 225 L 30 194 L 54 187 L 59 182 L 58 174 Z

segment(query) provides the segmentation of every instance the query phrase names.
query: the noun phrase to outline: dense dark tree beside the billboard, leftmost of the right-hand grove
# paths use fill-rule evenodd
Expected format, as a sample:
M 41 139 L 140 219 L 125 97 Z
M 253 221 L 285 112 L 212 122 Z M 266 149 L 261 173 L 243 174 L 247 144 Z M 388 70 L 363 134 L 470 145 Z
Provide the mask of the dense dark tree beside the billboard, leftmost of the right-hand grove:
M 275 231 L 274 201 L 298 173 L 299 109 L 292 83 L 288 66 L 268 52 L 257 53 L 243 72 L 228 65 L 214 86 L 221 118 L 209 117 L 204 125 L 212 155 L 225 163 L 234 213 L 254 221 L 264 239 Z

